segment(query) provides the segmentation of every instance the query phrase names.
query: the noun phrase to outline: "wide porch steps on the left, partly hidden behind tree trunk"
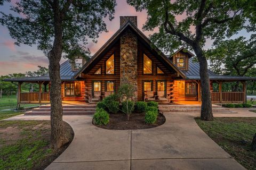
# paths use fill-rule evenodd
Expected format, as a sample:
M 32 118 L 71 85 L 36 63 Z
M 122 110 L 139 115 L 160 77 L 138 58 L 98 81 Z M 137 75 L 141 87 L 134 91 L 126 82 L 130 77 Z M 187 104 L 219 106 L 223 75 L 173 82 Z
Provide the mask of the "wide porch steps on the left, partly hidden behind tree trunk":
M 63 115 L 92 115 L 95 113 L 96 105 L 63 105 Z M 51 106 L 44 105 L 25 112 L 25 115 L 50 115 Z

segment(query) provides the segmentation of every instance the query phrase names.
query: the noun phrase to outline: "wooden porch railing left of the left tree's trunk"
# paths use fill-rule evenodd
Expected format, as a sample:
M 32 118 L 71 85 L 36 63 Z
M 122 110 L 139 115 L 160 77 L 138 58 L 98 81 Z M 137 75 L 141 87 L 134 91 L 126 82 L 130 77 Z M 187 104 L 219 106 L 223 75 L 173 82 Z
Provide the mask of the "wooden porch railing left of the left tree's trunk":
M 22 92 L 20 93 L 20 103 L 41 103 L 50 101 L 49 92 Z

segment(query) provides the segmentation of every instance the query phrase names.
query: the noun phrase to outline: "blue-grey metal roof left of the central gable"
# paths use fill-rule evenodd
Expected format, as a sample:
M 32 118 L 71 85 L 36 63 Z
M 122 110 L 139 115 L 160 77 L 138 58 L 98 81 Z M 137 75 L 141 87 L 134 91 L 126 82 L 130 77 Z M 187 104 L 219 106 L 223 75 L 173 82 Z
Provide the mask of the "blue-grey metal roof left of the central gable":
M 73 78 L 77 71 L 72 71 L 72 65 L 69 60 L 65 61 L 60 65 L 60 79 L 61 81 L 77 81 Z M 4 81 L 14 81 L 14 82 L 35 82 L 35 81 L 50 81 L 49 75 L 39 76 L 39 77 L 23 77 L 23 78 L 10 78 L 4 79 Z

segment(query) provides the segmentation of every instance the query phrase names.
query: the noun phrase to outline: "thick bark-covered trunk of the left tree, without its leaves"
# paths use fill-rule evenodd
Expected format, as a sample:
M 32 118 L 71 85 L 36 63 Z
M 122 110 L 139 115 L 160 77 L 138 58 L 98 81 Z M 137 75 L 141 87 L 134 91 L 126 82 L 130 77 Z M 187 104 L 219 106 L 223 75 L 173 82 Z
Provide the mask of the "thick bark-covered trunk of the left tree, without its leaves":
M 58 149 L 68 142 L 63 132 L 62 101 L 61 101 L 61 79 L 60 59 L 62 55 L 62 27 L 61 16 L 58 9 L 54 14 L 54 42 L 49 52 L 49 75 L 51 81 L 50 102 L 51 102 L 51 146 Z

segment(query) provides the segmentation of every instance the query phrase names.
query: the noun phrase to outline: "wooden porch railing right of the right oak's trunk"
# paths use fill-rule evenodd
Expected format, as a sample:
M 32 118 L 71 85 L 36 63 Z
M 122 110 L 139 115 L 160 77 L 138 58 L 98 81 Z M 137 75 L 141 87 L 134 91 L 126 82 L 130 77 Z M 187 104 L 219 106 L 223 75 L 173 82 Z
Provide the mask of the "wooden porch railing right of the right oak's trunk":
M 241 103 L 244 101 L 244 92 L 211 92 L 213 103 Z

